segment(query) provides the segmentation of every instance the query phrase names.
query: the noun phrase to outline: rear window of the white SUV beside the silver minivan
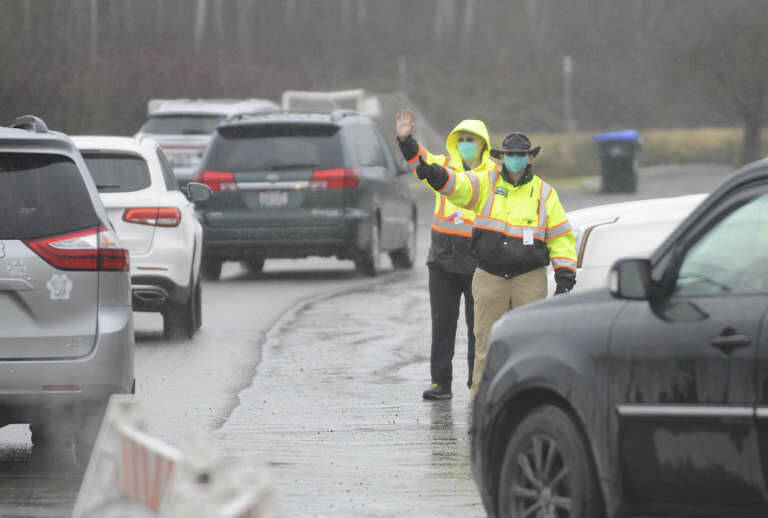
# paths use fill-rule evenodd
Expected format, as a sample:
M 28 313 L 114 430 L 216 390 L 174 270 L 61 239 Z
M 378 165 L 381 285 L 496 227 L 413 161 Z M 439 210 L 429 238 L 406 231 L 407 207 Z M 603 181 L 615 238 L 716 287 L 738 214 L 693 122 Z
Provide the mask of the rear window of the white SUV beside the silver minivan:
M 132 192 L 146 189 L 151 180 L 147 162 L 135 155 L 83 153 L 99 192 Z

